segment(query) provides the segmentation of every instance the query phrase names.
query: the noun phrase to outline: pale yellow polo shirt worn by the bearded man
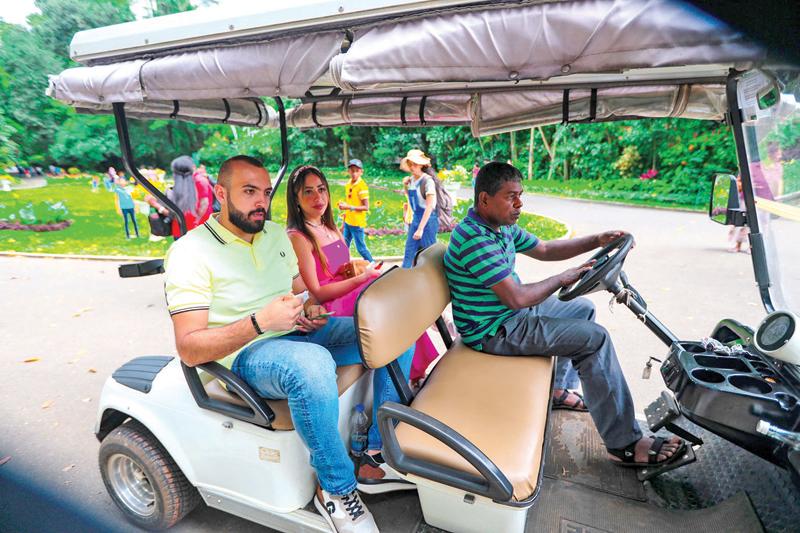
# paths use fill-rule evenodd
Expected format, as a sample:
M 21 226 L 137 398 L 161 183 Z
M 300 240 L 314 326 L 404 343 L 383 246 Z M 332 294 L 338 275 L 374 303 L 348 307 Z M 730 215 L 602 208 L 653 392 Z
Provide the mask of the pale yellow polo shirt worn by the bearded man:
M 292 280 L 300 275 L 294 248 L 281 226 L 267 221 L 249 243 L 216 216 L 170 246 L 164 271 L 169 314 L 207 310 L 209 328 L 236 322 L 291 293 Z M 286 333 L 265 331 L 248 345 Z M 230 368 L 238 353 L 219 363 Z

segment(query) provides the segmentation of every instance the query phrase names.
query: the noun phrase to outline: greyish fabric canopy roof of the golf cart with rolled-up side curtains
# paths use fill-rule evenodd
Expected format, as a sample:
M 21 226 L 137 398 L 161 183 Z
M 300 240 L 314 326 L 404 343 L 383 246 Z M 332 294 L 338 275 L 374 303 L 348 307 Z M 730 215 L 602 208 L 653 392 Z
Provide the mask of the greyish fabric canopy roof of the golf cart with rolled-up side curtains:
M 674 0 L 303 2 L 198 9 L 79 32 L 86 66 L 48 92 L 81 111 L 276 125 L 470 125 L 720 119 L 730 69 L 765 51 Z

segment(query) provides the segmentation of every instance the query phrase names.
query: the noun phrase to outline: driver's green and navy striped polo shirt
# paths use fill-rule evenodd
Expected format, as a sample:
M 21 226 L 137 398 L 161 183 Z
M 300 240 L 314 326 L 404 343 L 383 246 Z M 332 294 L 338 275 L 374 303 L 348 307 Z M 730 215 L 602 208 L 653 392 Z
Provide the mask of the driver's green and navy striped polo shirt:
M 450 235 L 444 270 L 453 299 L 453 321 L 464 344 L 476 350 L 517 311 L 500 301 L 492 286 L 513 276 L 516 254 L 535 247 L 539 239 L 520 228 L 493 230 L 470 209 Z

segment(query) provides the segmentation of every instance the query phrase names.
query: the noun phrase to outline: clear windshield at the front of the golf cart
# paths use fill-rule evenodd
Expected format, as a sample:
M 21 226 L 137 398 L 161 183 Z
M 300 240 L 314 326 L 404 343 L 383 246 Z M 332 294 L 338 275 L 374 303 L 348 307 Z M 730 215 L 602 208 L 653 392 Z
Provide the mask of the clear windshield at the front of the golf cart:
M 747 160 L 777 309 L 800 310 L 800 74 L 740 101 Z M 746 88 L 745 88 L 746 90 Z

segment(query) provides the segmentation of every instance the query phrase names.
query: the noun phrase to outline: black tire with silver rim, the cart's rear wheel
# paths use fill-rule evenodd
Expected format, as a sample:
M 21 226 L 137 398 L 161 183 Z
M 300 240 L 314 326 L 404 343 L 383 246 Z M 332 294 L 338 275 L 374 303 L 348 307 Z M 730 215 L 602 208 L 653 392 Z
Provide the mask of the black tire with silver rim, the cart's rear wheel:
M 99 464 L 111 499 L 141 528 L 170 528 L 200 503 L 197 489 L 138 422 L 128 421 L 103 439 Z

